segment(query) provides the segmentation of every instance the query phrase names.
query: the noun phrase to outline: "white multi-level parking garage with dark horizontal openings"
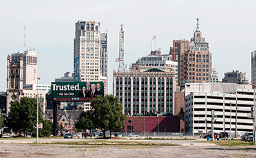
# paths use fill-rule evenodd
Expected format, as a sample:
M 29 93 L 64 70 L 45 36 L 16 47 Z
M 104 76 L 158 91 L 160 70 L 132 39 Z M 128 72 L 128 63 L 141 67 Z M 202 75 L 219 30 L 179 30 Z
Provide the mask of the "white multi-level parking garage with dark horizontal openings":
M 216 118 L 214 132 L 230 132 L 230 127 L 232 135 L 236 131 L 252 132 L 253 122 L 248 116 L 254 106 L 255 91 L 248 87 L 236 83 L 187 83 L 185 132 L 211 132 L 211 110 Z

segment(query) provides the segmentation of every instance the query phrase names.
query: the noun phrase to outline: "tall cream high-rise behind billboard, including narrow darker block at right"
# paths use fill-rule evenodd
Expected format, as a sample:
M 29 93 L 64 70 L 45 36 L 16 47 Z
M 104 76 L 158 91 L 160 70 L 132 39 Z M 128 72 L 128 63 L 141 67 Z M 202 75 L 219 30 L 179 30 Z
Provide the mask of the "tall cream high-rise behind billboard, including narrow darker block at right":
M 79 20 L 75 23 L 74 81 L 101 81 L 107 94 L 107 33 L 100 32 L 100 22 Z

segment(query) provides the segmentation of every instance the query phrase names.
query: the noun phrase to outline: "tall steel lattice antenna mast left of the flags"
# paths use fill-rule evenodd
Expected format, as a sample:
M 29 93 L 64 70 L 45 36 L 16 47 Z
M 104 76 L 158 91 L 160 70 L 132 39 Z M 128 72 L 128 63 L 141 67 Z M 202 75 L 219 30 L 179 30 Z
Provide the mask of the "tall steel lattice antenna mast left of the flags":
M 123 24 L 121 25 L 121 30 L 119 31 L 119 66 L 118 66 L 119 72 L 124 72 L 124 30 L 123 30 Z

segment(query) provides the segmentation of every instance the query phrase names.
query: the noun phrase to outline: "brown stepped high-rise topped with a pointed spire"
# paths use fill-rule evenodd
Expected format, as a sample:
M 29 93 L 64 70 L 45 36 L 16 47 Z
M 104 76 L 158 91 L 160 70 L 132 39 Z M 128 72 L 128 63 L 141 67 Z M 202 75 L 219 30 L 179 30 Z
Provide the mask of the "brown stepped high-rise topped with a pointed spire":
M 184 82 L 210 82 L 211 53 L 208 43 L 202 37 L 198 18 L 190 43 L 181 40 L 178 47 L 178 85 Z

